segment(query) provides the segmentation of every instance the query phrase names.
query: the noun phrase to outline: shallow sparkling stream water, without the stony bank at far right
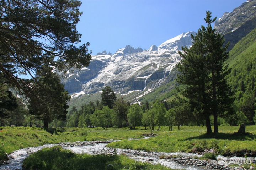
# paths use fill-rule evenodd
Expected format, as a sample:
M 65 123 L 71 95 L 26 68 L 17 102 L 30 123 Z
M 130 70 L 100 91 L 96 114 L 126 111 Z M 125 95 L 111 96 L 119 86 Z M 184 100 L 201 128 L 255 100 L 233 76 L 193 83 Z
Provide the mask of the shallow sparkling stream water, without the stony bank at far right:
M 148 139 L 149 137 L 145 137 Z M 131 139 L 138 140 L 138 139 Z M 206 170 L 209 169 L 204 166 L 188 166 L 178 164 L 172 159 L 160 159 L 160 156 L 177 156 L 181 159 L 184 157 L 189 157 L 193 159 L 194 157 L 201 157 L 201 155 L 193 153 L 165 153 L 165 152 L 144 152 L 139 150 L 131 149 L 114 149 L 108 148 L 106 145 L 111 142 L 116 141 L 84 141 L 84 142 L 70 142 L 70 143 L 60 143 L 60 144 L 47 144 L 39 147 L 30 147 L 24 148 L 10 153 L 8 156 L 10 160 L 6 165 L 1 165 L 1 170 L 22 170 L 22 162 L 30 154 L 37 152 L 46 147 L 61 146 L 64 149 L 71 150 L 77 154 L 90 154 L 90 155 L 99 155 L 99 154 L 118 154 L 118 155 L 127 155 L 130 159 L 134 159 L 140 162 L 148 162 L 151 164 L 161 164 L 163 166 L 172 168 L 172 169 L 186 169 L 186 170 Z

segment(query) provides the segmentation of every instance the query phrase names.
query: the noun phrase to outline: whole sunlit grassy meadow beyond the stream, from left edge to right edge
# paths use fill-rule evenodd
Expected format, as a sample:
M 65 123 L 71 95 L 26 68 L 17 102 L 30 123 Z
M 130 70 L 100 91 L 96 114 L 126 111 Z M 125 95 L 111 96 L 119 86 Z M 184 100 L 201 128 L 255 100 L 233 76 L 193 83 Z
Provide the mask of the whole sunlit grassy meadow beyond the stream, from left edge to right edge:
M 49 128 L 47 130 L 35 127 L 1 127 L 0 158 L 3 153 L 9 153 L 26 147 L 41 146 L 60 142 L 75 141 L 105 141 L 120 139 L 122 141 L 108 144 L 108 147 L 137 149 L 148 152 L 203 152 L 214 149 L 217 154 L 230 155 L 234 153 L 256 152 L 256 125 L 246 126 L 245 135 L 235 134 L 238 126 L 219 126 L 219 134 L 206 135 L 204 126 L 182 126 L 180 130 L 174 127 L 161 127 L 160 131 L 144 130 L 137 127 L 129 128 Z M 147 140 L 129 141 L 130 138 L 143 138 L 143 134 L 154 133 L 157 136 Z

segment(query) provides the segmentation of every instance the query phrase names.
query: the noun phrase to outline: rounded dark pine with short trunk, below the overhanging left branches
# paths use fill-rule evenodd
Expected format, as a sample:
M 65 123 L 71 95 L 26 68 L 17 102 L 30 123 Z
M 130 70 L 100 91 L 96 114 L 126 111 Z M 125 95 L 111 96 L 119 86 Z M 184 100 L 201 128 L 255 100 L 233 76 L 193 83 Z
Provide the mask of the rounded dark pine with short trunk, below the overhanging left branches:
M 44 127 L 47 128 L 54 119 L 66 120 L 70 96 L 60 83 L 59 76 L 50 67 L 43 67 L 37 75 L 38 82 L 31 79 L 29 87 L 33 90 L 28 96 L 29 109 L 30 114 L 43 120 Z

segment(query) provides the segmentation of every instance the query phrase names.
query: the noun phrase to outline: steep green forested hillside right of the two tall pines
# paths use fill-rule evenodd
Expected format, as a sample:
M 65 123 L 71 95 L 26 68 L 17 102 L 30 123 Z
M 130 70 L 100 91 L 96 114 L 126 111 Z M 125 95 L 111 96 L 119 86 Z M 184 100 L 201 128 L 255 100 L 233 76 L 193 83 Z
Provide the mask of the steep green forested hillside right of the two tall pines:
M 256 29 L 240 40 L 229 53 L 227 61 L 231 69 L 228 83 L 235 92 L 234 117 L 230 124 L 236 124 L 237 118 L 243 118 L 254 124 L 256 97 Z M 246 116 L 246 117 L 245 117 Z

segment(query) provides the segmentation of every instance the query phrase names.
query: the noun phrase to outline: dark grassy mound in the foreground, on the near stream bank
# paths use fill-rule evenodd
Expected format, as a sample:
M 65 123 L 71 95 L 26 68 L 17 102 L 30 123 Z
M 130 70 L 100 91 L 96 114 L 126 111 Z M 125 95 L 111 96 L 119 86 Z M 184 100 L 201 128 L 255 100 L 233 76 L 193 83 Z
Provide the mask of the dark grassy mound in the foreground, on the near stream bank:
M 44 148 L 23 162 L 25 170 L 170 170 L 140 163 L 124 155 L 74 154 L 60 147 Z

